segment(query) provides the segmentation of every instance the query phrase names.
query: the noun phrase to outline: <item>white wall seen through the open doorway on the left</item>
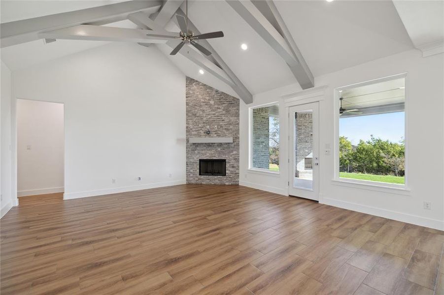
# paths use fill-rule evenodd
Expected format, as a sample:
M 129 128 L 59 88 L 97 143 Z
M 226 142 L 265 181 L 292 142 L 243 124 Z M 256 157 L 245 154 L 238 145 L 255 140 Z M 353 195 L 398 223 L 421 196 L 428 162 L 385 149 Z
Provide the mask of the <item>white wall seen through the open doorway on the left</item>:
M 63 104 L 17 99 L 17 195 L 63 192 Z

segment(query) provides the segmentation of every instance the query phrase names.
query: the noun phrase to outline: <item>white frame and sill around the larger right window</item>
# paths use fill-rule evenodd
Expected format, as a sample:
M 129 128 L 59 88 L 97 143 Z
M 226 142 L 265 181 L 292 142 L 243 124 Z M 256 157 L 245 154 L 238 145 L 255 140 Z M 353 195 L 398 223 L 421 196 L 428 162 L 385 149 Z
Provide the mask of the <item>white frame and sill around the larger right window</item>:
M 396 183 L 387 183 L 387 182 L 381 182 L 381 181 L 373 181 L 373 180 L 361 180 L 361 179 L 351 179 L 351 178 L 344 178 L 344 177 L 340 177 L 339 173 L 340 173 L 340 162 L 339 162 L 339 98 L 340 96 L 340 90 L 346 90 L 346 89 L 352 89 L 352 88 L 356 88 L 356 87 L 361 87 L 361 86 L 366 86 L 366 85 L 372 85 L 372 84 L 376 84 L 376 83 L 381 83 L 381 82 L 385 82 L 385 81 L 391 81 L 391 80 L 395 80 L 395 79 L 400 79 L 400 78 L 404 78 L 404 83 L 405 83 L 405 92 L 404 92 L 404 140 L 405 140 L 405 144 L 404 144 L 404 184 L 396 184 Z M 366 82 L 360 82 L 360 83 L 355 83 L 355 84 L 351 84 L 351 85 L 347 85 L 347 86 L 342 86 L 342 87 L 338 87 L 334 89 L 334 118 L 335 118 L 335 122 L 334 122 L 334 128 L 335 128 L 335 172 L 334 172 L 334 177 L 332 179 L 332 181 L 335 184 L 339 184 L 339 185 L 345 185 L 345 186 L 352 186 L 352 187 L 359 187 L 359 188 L 367 188 L 367 189 L 371 189 L 371 190 L 378 190 L 380 191 L 381 189 L 383 191 L 398 191 L 398 192 L 402 192 L 402 191 L 410 191 L 409 188 L 409 182 L 408 182 L 408 174 L 409 174 L 409 168 L 408 168 L 408 146 L 409 146 L 409 141 L 408 141 L 408 76 L 407 73 L 402 73 L 402 74 L 396 74 L 396 75 L 392 75 L 392 76 L 387 76 L 387 77 L 383 77 L 383 78 L 377 78 L 374 80 L 370 80 L 370 81 L 366 81 Z

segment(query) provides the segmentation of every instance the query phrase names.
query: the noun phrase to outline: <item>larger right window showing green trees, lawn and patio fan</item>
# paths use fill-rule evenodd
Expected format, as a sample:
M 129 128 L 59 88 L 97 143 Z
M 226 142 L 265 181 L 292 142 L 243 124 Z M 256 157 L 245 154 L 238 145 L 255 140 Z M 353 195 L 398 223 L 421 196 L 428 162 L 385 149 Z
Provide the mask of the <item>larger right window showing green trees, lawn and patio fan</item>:
M 406 77 L 338 89 L 339 177 L 405 184 Z

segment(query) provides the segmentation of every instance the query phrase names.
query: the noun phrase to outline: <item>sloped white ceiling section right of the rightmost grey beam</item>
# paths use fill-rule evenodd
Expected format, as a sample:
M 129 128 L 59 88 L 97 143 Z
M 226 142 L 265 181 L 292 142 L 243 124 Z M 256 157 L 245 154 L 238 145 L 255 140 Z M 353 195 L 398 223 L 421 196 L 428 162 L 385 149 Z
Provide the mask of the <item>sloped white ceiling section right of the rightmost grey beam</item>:
M 275 1 L 314 76 L 412 49 L 392 1 Z

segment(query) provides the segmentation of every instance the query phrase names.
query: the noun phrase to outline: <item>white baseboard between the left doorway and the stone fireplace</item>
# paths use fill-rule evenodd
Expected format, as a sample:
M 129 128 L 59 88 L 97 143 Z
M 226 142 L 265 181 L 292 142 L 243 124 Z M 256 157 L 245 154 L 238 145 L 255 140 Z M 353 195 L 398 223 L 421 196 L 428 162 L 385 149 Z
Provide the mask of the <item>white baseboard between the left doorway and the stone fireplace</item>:
M 186 183 L 186 180 L 183 179 L 183 180 L 147 183 L 147 184 L 140 184 L 140 185 L 121 186 L 121 187 L 116 187 L 116 188 L 105 188 L 105 189 L 75 192 L 75 193 L 64 193 L 63 199 L 64 200 L 72 200 L 72 199 L 78 199 L 78 198 L 87 198 L 87 197 L 94 197 L 94 196 L 132 192 L 132 191 L 149 189 L 149 188 L 156 188 L 156 187 L 179 185 L 179 184 L 185 184 L 185 183 Z

